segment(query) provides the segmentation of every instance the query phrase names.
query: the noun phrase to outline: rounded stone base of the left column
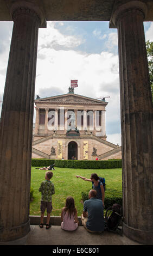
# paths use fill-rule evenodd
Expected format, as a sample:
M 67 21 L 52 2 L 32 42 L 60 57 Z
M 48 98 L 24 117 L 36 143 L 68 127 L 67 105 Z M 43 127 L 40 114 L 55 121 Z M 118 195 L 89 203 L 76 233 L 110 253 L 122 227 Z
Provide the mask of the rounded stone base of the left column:
M 28 222 L 21 224 L 20 226 L 10 227 L 10 228 L 0 228 L 0 241 L 12 241 L 20 239 L 27 235 L 30 231 L 30 219 Z

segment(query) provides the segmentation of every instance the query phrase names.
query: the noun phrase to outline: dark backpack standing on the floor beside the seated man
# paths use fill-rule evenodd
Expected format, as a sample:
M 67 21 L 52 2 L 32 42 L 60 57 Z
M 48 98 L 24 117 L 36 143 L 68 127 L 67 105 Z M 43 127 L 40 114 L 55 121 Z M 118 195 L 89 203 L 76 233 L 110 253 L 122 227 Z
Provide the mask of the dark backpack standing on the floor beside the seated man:
M 105 223 L 106 229 L 115 231 L 122 221 L 122 206 L 120 204 L 113 204 L 106 210 Z

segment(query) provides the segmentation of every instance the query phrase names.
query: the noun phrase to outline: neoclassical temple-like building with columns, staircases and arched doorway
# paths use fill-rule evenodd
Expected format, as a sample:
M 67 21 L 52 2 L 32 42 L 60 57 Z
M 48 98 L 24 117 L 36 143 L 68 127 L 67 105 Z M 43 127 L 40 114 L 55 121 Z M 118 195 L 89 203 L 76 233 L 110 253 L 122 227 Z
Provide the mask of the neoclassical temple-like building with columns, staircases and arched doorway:
M 105 99 L 74 94 L 70 89 L 67 94 L 35 100 L 32 157 L 121 159 L 121 147 L 106 141 Z

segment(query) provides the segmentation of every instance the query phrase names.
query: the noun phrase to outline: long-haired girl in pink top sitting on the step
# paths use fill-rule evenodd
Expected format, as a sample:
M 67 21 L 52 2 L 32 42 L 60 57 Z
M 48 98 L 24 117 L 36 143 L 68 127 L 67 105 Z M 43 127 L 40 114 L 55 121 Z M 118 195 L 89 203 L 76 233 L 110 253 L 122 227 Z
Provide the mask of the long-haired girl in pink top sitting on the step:
M 74 205 L 73 197 L 67 197 L 65 207 L 61 212 L 61 228 L 64 230 L 75 230 L 78 228 L 78 215 Z

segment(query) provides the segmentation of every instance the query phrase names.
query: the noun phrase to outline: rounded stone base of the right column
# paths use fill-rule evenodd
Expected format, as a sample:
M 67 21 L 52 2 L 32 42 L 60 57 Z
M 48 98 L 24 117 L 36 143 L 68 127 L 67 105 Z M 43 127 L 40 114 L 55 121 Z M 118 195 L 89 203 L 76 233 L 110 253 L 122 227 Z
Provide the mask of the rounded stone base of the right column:
M 127 226 L 123 223 L 123 234 L 133 241 L 143 243 L 144 245 L 153 244 L 153 231 L 145 231 L 140 229 L 135 229 Z

